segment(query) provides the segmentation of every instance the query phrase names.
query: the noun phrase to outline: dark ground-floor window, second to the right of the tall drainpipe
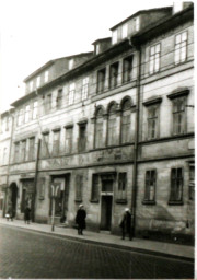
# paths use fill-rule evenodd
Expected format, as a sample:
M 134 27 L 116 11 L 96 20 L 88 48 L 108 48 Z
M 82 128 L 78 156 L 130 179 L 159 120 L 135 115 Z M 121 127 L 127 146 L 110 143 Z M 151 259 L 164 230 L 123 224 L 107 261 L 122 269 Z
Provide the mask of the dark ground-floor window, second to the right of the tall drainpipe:
M 171 194 L 169 203 L 182 203 L 183 201 L 183 168 L 171 170 Z

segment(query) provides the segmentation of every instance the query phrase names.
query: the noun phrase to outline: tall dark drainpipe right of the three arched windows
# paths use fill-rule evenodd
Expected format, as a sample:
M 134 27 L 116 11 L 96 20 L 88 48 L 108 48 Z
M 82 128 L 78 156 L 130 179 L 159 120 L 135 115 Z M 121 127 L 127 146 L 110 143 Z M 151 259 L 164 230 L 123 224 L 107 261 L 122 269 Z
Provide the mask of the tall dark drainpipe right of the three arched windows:
M 134 44 L 132 44 L 134 46 Z M 136 128 L 134 145 L 134 171 L 132 171 L 132 192 L 131 192 L 131 236 L 136 230 L 136 199 L 137 199 L 137 177 L 138 177 L 138 141 L 139 141 L 139 113 L 140 113 L 140 81 L 141 81 L 141 48 L 137 46 L 137 93 L 136 93 Z

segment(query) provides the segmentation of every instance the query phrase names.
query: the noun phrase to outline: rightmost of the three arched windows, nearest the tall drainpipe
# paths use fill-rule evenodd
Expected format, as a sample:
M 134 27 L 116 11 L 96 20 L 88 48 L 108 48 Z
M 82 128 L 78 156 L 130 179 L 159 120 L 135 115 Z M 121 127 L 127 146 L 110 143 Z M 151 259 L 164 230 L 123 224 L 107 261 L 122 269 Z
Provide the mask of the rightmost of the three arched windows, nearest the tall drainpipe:
M 130 142 L 130 101 L 125 100 L 121 106 L 121 143 Z

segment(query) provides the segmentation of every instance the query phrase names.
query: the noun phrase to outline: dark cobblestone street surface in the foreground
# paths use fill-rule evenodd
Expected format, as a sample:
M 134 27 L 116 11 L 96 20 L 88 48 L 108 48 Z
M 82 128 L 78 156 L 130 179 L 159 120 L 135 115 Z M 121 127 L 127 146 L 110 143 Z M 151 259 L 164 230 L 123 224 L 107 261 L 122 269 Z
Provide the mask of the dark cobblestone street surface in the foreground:
M 187 260 L 0 225 L 0 279 L 193 279 Z

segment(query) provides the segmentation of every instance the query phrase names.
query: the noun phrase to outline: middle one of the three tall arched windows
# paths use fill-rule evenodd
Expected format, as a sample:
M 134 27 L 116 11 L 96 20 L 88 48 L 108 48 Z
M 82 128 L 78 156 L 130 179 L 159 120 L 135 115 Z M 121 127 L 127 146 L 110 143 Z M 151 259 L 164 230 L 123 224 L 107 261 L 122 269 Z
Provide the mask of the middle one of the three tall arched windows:
M 108 108 L 107 145 L 116 144 L 116 104 Z

